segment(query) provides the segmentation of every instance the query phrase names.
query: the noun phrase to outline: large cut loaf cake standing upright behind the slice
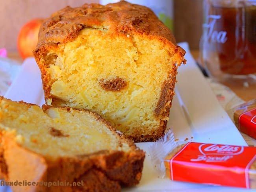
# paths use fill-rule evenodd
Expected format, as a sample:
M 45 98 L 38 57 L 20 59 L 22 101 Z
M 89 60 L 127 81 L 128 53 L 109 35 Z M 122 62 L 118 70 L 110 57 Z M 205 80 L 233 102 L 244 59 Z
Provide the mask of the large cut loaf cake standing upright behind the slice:
M 43 22 L 33 53 L 48 105 L 94 111 L 135 142 L 163 135 L 185 51 L 149 8 L 65 7 Z

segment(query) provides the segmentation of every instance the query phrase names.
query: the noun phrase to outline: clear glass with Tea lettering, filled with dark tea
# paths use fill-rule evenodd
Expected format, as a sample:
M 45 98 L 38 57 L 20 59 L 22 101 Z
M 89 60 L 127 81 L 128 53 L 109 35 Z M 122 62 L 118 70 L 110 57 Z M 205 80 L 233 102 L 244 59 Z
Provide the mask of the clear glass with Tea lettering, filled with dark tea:
M 256 83 L 256 0 L 204 0 L 202 65 L 217 81 Z

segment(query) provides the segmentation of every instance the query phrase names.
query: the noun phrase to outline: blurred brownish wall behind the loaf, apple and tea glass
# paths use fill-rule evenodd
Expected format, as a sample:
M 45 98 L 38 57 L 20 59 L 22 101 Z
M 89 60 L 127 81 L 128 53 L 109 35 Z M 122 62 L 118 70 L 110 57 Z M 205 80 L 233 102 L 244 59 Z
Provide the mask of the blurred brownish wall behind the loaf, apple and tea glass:
M 20 28 L 33 18 L 46 18 L 69 5 L 99 3 L 99 0 L 0 0 L 0 48 L 17 51 Z M 173 28 L 177 42 L 187 41 L 198 50 L 202 31 L 202 0 L 173 0 Z

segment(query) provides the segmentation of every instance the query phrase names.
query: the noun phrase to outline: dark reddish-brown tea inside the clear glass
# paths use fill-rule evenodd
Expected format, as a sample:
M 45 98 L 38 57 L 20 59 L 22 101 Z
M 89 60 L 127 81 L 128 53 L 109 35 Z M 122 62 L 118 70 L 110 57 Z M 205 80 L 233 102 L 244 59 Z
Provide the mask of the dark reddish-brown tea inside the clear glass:
M 226 31 L 225 43 L 217 43 L 221 71 L 226 74 L 256 72 L 256 6 L 246 8 L 213 7 L 220 15 L 214 26 Z

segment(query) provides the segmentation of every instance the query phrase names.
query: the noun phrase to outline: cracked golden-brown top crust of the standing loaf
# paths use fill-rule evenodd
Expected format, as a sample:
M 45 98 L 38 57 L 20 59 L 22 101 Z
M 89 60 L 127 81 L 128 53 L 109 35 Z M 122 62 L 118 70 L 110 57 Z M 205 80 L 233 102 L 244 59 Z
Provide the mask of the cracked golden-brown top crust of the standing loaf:
M 131 17 L 132 16 L 132 17 Z M 121 1 L 102 6 L 84 4 L 65 7 L 43 22 L 36 52 L 41 46 L 72 41 L 83 28 L 107 29 L 108 33 L 145 33 L 168 39 L 176 44 L 173 34 L 148 7 Z

